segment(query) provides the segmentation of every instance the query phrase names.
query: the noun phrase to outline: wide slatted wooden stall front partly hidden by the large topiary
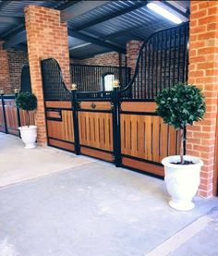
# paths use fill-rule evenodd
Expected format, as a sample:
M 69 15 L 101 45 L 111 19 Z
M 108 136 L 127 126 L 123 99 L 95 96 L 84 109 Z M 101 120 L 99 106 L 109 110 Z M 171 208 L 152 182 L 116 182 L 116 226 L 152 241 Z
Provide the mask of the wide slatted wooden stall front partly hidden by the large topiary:
M 162 159 L 177 154 L 177 132 L 156 116 L 155 103 L 121 104 L 122 164 L 163 176 Z

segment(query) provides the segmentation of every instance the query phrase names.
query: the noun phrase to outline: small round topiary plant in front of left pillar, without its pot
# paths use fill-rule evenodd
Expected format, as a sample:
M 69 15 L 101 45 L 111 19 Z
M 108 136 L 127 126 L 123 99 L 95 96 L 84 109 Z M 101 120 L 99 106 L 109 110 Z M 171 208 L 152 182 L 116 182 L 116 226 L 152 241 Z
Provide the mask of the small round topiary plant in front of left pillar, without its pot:
M 27 112 L 27 126 L 30 127 L 30 111 L 37 108 L 37 98 L 33 93 L 20 92 L 16 98 L 18 108 Z

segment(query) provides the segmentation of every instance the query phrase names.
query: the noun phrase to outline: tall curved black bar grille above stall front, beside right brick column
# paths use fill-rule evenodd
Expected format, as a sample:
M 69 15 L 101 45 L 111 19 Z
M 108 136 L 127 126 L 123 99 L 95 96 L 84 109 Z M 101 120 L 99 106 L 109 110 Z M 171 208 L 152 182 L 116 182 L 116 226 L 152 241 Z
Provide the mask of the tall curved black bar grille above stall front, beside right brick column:
M 158 91 L 188 80 L 188 23 L 160 30 L 139 51 L 133 78 L 122 98 L 153 100 Z M 127 93 L 127 91 L 129 93 Z

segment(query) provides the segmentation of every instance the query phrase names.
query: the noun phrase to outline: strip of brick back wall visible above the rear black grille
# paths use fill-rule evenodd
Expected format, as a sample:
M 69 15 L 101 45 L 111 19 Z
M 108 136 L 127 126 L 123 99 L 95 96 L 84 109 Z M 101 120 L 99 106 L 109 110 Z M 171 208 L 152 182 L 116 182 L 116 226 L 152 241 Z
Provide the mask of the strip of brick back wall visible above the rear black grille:
M 125 55 L 122 55 L 122 65 L 125 66 Z M 80 65 L 100 65 L 100 66 L 114 66 L 119 67 L 119 54 L 116 52 L 106 53 L 103 55 L 95 55 L 86 59 L 70 59 L 72 64 Z

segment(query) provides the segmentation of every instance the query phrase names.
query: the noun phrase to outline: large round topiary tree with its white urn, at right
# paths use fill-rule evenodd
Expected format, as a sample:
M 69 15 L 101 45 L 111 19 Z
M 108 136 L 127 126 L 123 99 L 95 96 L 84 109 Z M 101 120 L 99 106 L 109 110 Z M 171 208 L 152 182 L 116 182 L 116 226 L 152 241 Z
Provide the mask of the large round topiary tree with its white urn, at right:
M 180 155 L 163 158 L 164 181 L 172 199 L 171 207 L 188 211 L 194 207 L 192 202 L 200 185 L 200 167 L 198 157 L 184 155 L 186 128 L 200 121 L 205 113 L 204 96 L 194 85 L 176 84 L 170 89 L 160 91 L 155 99 L 156 113 L 163 123 L 173 126 L 180 134 Z

